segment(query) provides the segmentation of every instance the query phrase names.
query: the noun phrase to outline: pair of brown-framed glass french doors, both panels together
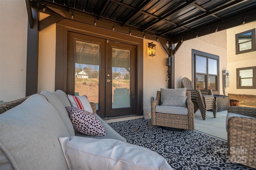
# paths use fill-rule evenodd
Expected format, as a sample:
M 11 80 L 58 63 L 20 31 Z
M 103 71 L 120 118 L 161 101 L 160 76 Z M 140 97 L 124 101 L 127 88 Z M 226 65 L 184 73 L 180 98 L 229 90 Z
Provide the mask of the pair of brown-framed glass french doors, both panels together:
M 86 95 L 100 117 L 136 114 L 136 46 L 68 32 L 67 93 Z

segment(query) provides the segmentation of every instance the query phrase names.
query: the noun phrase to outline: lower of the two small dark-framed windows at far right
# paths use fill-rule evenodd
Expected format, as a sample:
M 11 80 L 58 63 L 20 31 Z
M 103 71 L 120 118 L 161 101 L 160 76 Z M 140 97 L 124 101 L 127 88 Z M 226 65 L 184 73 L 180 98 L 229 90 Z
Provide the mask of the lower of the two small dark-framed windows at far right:
M 236 69 L 237 89 L 256 89 L 256 67 Z

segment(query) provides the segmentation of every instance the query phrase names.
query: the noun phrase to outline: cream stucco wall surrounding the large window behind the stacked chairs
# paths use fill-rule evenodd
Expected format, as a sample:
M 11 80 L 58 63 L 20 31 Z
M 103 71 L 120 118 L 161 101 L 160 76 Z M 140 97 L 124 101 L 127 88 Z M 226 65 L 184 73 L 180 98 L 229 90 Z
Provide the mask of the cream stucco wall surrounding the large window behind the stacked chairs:
M 222 70 L 227 69 L 226 30 L 202 37 L 199 35 L 182 43 L 175 54 L 175 88 L 181 87 L 183 77 L 192 80 L 192 49 L 220 57 L 220 91 L 215 94 L 223 95 Z

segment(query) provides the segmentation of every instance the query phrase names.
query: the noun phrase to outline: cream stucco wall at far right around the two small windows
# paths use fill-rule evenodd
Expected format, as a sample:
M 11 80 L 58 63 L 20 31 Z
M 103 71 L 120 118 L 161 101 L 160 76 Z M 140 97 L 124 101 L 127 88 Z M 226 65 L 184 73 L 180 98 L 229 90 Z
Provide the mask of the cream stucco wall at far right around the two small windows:
M 236 55 L 236 34 L 256 28 L 256 22 L 246 23 L 227 30 L 227 57 L 230 71 L 230 94 L 256 95 L 256 89 L 236 89 L 236 68 L 256 66 L 256 51 Z

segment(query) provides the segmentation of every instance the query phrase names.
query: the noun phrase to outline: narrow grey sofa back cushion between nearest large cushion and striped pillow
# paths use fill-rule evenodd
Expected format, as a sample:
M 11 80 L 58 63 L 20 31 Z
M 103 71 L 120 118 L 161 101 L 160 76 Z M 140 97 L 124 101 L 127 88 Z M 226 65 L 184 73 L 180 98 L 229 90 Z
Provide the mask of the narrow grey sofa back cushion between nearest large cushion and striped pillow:
M 63 105 L 63 103 L 55 95 L 55 92 L 42 91 L 40 94 L 44 95 L 48 100 L 48 102 L 56 109 L 56 111 L 58 111 L 58 114 L 60 115 L 64 125 L 68 129 L 70 136 L 74 136 L 75 135 L 74 127 L 72 125 L 70 117 L 68 116 L 68 112 L 65 106 Z

